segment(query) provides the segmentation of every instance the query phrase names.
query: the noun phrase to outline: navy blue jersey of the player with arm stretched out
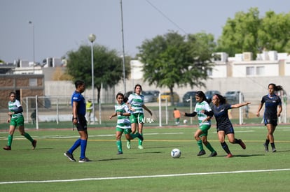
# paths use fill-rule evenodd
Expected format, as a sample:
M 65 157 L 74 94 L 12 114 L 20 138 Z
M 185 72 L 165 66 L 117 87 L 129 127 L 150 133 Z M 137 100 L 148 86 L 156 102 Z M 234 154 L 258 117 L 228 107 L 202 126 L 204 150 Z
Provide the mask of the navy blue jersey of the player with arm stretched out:
M 228 110 L 231 109 L 231 105 L 228 103 L 219 105 L 219 107 L 216 107 L 216 105 L 212 106 L 212 111 L 214 112 L 214 117 L 216 118 L 216 127 L 232 127 L 232 123 L 230 122 L 230 119 L 228 119 Z

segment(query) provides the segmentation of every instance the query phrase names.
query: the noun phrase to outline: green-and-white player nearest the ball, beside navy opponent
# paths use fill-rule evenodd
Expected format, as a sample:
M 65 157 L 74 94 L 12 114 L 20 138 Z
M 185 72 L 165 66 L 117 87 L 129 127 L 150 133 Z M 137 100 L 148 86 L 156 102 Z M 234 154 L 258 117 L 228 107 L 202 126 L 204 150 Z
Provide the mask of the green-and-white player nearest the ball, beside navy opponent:
M 184 112 L 184 116 L 186 117 L 195 117 L 195 115 L 198 115 L 198 122 L 200 124 L 200 128 L 198 128 L 197 131 L 194 133 L 194 138 L 196 142 L 198 143 L 198 147 L 200 148 L 200 152 L 198 153 L 198 156 L 202 156 L 205 154 L 205 149 L 203 149 L 202 143 L 209 149 L 210 152 L 212 152 L 209 157 L 216 156 L 217 153 L 212 148 L 212 145 L 207 141 L 207 133 L 209 131 L 211 124 L 210 119 L 211 116 L 207 116 L 205 113 L 212 111 L 212 109 L 209 107 L 209 101 L 207 100 L 205 94 L 202 91 L 197 91 L 195 94 L 195 100 L 198 102 L 195 105 L 195 110 L 192 113 L 186 113 Z

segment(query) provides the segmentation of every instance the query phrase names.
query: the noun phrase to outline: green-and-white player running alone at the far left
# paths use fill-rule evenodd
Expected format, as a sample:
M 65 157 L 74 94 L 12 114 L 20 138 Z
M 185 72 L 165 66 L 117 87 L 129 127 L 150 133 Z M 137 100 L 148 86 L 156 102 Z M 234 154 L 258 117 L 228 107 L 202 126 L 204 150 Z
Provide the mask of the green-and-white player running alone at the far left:
M 10 96 L 10 101 L 8 102 L 8 124 L 9 125 L 9 133 L 8 133 L 8 143 L 5 147 L 3 147 L 4 150 L 11 150 L 11 145 L 12 145 L 12 140 L 13 140 L 13 133 L 15 131 L 15 128 L 19 126 L 19 131 L 20 134 L 25 136 L 27 140 L 32 142 L 32 149 L 35 149 L 36 147 L 36 140 L 32 139 L 32 137 L 25 132 L 25 127 L 24 127 L 24 117 L 22 115 L 23 109 L 20 101 L 18 101 L 15 97 L 16 94 L 15 92 L 11 92 L 9 94 Z

